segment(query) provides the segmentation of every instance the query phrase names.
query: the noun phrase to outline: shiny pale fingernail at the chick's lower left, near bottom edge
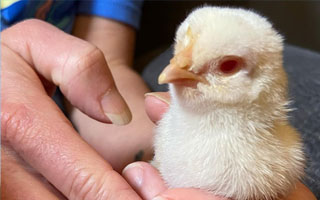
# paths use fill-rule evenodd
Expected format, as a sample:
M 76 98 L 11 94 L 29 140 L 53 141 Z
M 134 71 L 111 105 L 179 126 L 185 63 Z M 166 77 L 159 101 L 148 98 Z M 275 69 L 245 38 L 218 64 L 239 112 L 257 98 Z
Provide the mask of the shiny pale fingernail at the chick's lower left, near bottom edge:
M 143 168 L 139 163 L 132 163 L 126 166 L 122 174 L 128 177 L 130 184 L 135 188 L 140 188 L 143 182 Z

